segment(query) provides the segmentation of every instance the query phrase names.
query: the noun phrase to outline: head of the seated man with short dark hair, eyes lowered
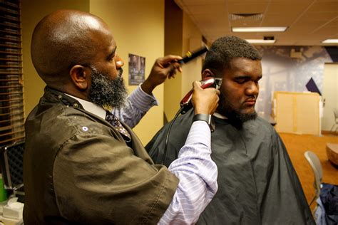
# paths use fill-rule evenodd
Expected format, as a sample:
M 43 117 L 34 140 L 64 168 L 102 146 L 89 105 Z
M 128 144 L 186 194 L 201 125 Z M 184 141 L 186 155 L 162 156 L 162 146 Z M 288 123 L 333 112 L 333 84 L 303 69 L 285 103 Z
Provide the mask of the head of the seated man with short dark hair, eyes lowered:
M 235 122 L 255 119 L 255 102 L 262 78 L 262 56 L 241 38 L 218 38 L 205 56 L 203 78 L 222 78 L 218 112 Z

